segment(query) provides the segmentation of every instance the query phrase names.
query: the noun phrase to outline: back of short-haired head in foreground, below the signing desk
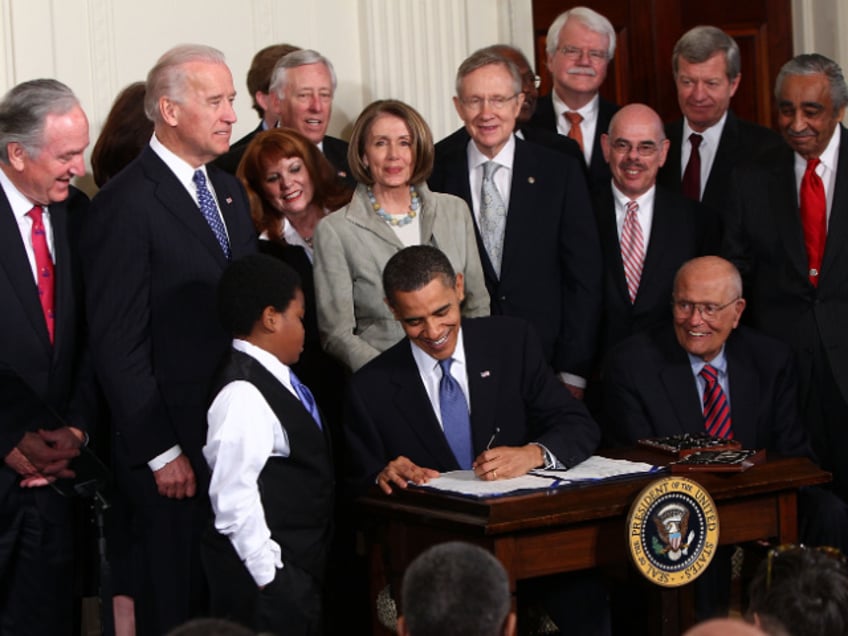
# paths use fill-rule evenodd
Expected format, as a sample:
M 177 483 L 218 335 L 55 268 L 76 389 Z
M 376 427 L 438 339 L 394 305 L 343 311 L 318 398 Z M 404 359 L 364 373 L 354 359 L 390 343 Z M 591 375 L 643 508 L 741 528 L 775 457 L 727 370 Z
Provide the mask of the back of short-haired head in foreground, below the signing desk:
M 451 541 L 420 554 L 406 570 L 400 636 L 514 636 L 509 579 L 483 548 Z

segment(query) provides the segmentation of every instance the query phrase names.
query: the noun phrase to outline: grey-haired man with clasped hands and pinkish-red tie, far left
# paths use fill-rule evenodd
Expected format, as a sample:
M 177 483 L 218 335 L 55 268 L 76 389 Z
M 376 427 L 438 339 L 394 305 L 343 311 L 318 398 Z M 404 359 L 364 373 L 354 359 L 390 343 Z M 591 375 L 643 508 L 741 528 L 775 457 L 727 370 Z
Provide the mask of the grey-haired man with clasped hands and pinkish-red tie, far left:
M 0 102 L 0 633 L 72 631 L 71 477 L 94 413 L 76 236 L 88 120 L 52 79 Z

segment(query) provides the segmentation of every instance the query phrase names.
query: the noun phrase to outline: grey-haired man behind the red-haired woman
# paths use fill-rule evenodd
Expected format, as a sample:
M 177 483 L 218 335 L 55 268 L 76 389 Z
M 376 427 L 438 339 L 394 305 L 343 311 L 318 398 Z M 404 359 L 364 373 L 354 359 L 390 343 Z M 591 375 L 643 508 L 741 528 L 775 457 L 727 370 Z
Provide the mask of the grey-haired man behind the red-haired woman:
M 278 126 L 293 128 L 314 143 L 350 186 L 355 182 L 347 163 L 347 142 L 327 134 L 336 92 L 336 71 L 326 57 L 311 49 L 293 51 L 271 74 L 271 103 Z

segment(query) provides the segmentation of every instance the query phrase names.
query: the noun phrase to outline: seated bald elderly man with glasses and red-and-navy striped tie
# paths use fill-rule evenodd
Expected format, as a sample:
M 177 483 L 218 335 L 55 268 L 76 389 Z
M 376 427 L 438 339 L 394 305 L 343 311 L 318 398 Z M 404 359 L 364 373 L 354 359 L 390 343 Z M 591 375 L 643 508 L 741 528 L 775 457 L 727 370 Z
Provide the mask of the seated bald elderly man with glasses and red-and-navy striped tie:
M 632 336 L 607 359 L 606 439 L 631 446 L 646 437 L 706 431 L 743 448 L 810 455 L 792 351 L 740 327 L 744 309 L 732 263 L 718 256 L 686 262 L 674 279 L 673 326 Z M 844 545 L 848 510 L 832 493 L 802 490 L 799 517 L 807 543 Z M 699 618 L 727 611 L 730 559 L 721 554 L 696 583 Z

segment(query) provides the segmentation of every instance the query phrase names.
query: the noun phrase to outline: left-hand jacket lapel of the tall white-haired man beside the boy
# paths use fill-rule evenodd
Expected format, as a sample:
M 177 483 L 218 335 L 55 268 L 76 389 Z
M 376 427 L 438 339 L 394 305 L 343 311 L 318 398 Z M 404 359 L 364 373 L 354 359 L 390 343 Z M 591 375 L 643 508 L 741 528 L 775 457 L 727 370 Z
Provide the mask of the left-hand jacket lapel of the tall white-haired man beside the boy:
M 176 175 L 149 146 L 142 152 L 141 162 L 147 177 L 156 183 L 155 196 L 162 203 L 162 206 L 177 217 L 186 226 L 186 229 L 204 245 L 221 267 L 224 267 L 227 259 L 212 232 L 212 228 L 209 227 L 197 207 L 197 203 L 194 202 L 194 199 Z M 221 195 L 218 193 L 218 196 Z

